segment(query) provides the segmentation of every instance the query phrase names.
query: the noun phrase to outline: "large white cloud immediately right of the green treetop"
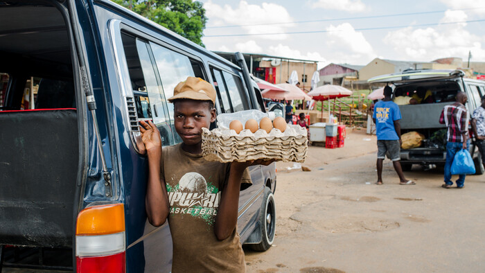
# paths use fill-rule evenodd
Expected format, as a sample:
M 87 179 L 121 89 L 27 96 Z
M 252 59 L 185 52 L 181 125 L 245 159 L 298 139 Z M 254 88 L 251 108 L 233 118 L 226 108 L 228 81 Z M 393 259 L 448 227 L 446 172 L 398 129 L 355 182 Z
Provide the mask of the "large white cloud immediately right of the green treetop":
M 240 1 L 237 8 L 229 5 L 220 6 L 207 1 L 204 3 L 206 16 L 210 18 L 210 26 L 240 25 L 249 34 L 284 33 L 288 27 L 294 26 L 293 18 L 288 10 L 276 3 L 261 3 L 252 5 L 247 1 Z M 272 24 L 272 23 L 288 24 Z M 255 26 L 256 24 L 260 24 Z M 266 25 L 261 25 L 266 24 Z M 229 32 L 235 28 L 215 28 L 218 33 Z M 206 30 L 211 30 L 210 27 Z M 259 36 L 261 39 L 286 39 L 288 35 Z

